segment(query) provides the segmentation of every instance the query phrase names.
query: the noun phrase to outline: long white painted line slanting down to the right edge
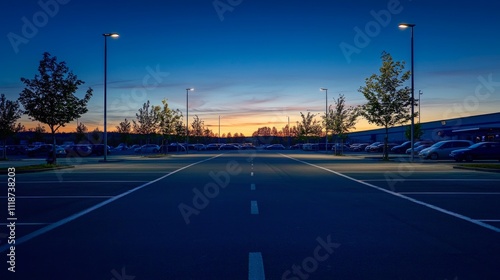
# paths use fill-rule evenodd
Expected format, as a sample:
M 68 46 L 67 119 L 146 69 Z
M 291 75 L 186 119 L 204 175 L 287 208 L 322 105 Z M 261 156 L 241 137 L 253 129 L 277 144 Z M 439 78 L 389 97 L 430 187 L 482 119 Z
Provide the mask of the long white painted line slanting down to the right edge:
M 481 227 L 484 227 L 484 228 L 487 228 L 487 229 L 490 229 L 490 230 L 493 230 L 495 232 L 499 232 L 500 233 L 500 228 L 497 228 L 497 227 L 494 227 L 492 225 L 489 225 L 487 223 L 484 223 L 482 221 L 479 221 L 479 220 L 475 220 L 475 219 L 472 219 L 470 217 L 467 217 L 467 216 L 464 216 L 464 215 L 461 215 L 461 214 L 458 214 L 458 213 L 455 213 L 455 212 L 452 212 L 452 211 L 449 211 L 449 210 L 446 210 L 446 209 L 443 209 L 441 207 L 438 207 L 438 206 L 435 206 L 435 205 L 432 205 L 432 204 L 429 204 L 429 203 L 425 203 L 423 201 L 420 201 L 420 200 L 417 200 L 417 199 L 414 199 L 414 198 L 411 198 L 409 196 L 405 196 L 405 195 L 402 195 L 400 193 L 396 193 L 396 192 L 393 192 L 393 191 L 390 191 L 390 190 L 386 190 L 384 188 L 381 188 L 381 187 L 377 187 L 375 185 L 372 185 L 370 183 L 367 183 L 367 182 L 363 182 L 363 181 L 360 181 L 360 180 L 357 180 L 357 179 L 354 179 L 352 177 L 349 177 L 347 175 L 344 175 L 342 173 L 339 173 L 339 172 L 336 172 L 336 171 L 333 171 L 333 170 L 330 170 L 328 168 L 325 168 L 325 167 L 322 167 L 322 166 L 319 166 L 319 165 L 315 165 L 315 164 L 312 164 L 312 163 L 309 163 L 309 162 L 306 162 L 306 161 L 302 161 L 302 160 L 299 160 L 299 159 L 295 159 L 295 158 L 292 158 L 288 155 L 284 155 L 284 154 L 280 154 L 286 158 L 289 158 L 291 160 L 295 160 L 295 161 L 298 161 L 298 162 L 301 162 L 303 164 L 307 164 L 309 166 L 312 166 L 312 167 L 316 167 L 316 168 L 319 168 L 319 169 L 322 169 L 324 171 L 327 171 L 327 172 L 330 172 L 330 173 L 333 173 L 335 175 L 338 175 L 340 177 L 343 177 L 343 178 L 346 178 L 346 179 L 349 179 L 351 181 L 354 181 L 354 182 L 358 182 L 360 184 L 363 184 L 365 186 L 368 186 L 370 188 L 374 188 L 376 190 L 379 190 L 379 191 L 382 191 L 382 192 L 385 192 L 385 193 L 388 193 L 388 194 L 391 194 L 391 195 L 394 195 L 394 196 L 397 196 L 399 198 L 402 198 L 402 199 L 405 199 L 405 200 L 408 200 L 408 201 L 411 201 L 413 203 L 416 203 L 416 204 L 419 204 L 419 205 L 422 205 L 422 206 L 425 206 L 427 208 L 431 208 L 433 210 L 436 210 L 438 212 L 441 212 L 441 213 L 444 213 L 444 214 L 447 214 L 447 215 L 450 215 L 450 216 L 453 216 L 455 218 L 459 218 L 459 219 L 462 219 L 464 221 L 467 221 L 467 222 L 470 222 L 470 223 L 473 223 L 473 224 L 476 224 L 478 226 L 481 226 Z

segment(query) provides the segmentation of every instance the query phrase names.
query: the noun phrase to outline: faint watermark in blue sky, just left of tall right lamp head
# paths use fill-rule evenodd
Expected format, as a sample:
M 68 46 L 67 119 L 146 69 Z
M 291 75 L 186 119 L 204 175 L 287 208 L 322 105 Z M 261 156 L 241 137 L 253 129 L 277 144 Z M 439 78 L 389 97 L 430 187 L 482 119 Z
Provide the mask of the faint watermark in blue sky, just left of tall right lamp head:
M 353 43 L 342 42 L 339 44 L 342 54 L 344 54 L 347 63 L 351 63 L 353 54 L 360 54 L 361 50 L 368 47 L 372 38 L 377 37 L 383 28 L 386 28 L 392 21 L 392 15 L 397 15 L 403 11 L 403 6 L 399 0 L 389 0 L 387 9 L 378 12 L 371 10 L 370 15 L 373 20 L 367 22 L 364 29 L 354 27 Z

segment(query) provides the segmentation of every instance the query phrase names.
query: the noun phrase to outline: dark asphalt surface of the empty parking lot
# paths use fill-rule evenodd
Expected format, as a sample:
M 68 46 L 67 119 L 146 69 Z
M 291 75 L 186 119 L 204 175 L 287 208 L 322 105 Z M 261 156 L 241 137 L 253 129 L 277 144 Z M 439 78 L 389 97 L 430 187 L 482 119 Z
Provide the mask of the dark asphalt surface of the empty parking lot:
M 315 166 L 228 152 L 18 174 L 17 241 L 49 230 L 11 273 L 2 226 L 1 279 L 498 279 L 499 232 L 404 197 L 500 220 L 500 174 L 288 156 Z

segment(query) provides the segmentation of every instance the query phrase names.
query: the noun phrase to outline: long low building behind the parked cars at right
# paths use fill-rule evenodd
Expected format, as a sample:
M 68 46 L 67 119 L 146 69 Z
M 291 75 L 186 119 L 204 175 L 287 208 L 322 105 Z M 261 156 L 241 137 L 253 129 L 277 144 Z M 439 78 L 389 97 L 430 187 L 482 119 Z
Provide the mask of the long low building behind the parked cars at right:
M 408 141 L 406 130 L 410 125 L 389 129 L 389 142 Z M 450 139 L 500 142 L 500 113 L 476 115 L 421 123 L 423 135 L 419 140 L 442 141 Z M 350 143 L 384 141 L 385 129 L 365 130 L 349 133 Z

